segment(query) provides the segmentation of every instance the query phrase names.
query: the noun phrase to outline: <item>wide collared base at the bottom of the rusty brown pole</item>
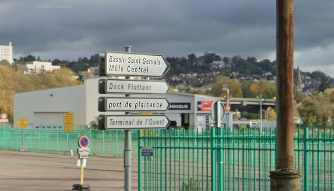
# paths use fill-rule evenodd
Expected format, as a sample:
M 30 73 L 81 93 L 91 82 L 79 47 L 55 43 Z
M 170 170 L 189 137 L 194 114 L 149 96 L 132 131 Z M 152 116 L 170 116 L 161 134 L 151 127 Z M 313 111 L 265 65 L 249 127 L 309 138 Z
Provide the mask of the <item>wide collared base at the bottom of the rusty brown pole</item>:
M 279 169 L 269 172 L 271 191 L 301 191 L 301 172 L 295 169 Z

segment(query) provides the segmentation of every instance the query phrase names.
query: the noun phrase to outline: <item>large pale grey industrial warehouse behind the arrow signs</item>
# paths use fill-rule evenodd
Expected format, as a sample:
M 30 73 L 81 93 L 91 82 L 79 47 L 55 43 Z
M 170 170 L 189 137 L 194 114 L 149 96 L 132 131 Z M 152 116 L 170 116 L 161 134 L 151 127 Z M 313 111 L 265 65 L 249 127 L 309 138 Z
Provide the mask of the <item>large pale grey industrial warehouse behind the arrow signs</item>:
M 27 119 L 28 128 L 64 129 L 64 114 L 74 114 L 74 127 L 88 127 L 99 115 L 124 115 L 125 112 L 99 112 L 100 97 L 125 97 L 125 94 L 99 94 L 99 78 L 84 84 L 15 94 L 14 127 L 18 119 Z M 164 114 L 172 125 L 205 129 L 213 123 L 211 105 L 217 98 L 188 93 L 168 92 L 158 94 L 131 94 L 131 97 L 166 98 L 170 107 Z M 140 112 L 131 112 L 140 114 Z M 223 123 L 231 127 L 232 115 L 226 113 Z

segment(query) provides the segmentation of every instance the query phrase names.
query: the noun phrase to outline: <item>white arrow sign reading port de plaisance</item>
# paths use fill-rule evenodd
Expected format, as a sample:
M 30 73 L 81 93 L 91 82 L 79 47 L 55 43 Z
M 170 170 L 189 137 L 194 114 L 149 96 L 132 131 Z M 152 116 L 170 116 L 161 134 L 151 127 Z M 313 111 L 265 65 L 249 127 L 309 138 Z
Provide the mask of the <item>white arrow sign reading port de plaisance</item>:
M 99 99 L 100 100 L 100 99 Z M 106 98 L 105 111 L 166 111 L 169 102 L 165 98 Z

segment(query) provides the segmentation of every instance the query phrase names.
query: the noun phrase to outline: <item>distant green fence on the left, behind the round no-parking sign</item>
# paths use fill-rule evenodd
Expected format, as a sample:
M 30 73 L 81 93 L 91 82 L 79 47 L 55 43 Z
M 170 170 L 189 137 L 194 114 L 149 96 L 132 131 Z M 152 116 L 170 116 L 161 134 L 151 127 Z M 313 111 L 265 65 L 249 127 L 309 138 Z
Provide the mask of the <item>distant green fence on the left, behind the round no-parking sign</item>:
M 47 127 L 47 126 L 46 126 Z M 28 151 L 45 153 L 64 153 L 65 150 L 76 152 L 78 139 L 81 136 L 90 138 L 91 155 L 101 156 L 123 156 L 124 152 L 124 131 L 100 131 L 100 130 L 73 130 L 72 133 L 65 133 L 64 129 L 18 129 L 0 128 L 0 148 L 19 150 L 26 147 Z M 132 145 L 138 147 L 138 131 L 132 131 Z M 137 156 L 137 149 L 132 152 Z

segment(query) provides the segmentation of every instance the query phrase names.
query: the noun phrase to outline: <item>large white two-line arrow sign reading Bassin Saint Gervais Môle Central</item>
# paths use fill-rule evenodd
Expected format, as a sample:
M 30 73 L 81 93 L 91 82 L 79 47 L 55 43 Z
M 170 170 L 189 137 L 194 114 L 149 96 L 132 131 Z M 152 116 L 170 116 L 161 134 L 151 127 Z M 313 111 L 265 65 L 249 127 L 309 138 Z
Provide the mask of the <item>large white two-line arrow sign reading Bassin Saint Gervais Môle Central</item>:
M 162 77 L 170 65 L 162 55 L 106 52 L 106 75 Z

